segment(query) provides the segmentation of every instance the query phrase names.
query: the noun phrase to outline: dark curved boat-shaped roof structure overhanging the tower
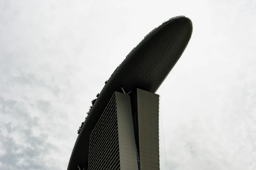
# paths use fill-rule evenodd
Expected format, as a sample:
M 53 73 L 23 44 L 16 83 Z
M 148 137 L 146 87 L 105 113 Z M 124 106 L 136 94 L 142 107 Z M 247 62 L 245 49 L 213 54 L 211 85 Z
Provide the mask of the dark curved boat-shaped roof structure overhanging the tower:
M 115 91 L 155 93 L 185 50 L 193 25 L 190 19 L 171 18 L 152 30 L 116 68 L 95 101 L 77 137 L 68 170 L 88 166 L 90 134 Z

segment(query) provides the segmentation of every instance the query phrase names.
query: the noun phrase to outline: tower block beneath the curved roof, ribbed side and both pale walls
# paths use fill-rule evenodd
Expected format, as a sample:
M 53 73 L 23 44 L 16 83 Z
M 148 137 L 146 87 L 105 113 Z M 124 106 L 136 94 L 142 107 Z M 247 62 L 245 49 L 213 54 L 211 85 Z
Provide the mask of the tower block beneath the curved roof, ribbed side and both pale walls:
M 159 170 L 158 110 L 158 94 L 114 92 L 90 135 L 88 170 Z

